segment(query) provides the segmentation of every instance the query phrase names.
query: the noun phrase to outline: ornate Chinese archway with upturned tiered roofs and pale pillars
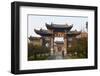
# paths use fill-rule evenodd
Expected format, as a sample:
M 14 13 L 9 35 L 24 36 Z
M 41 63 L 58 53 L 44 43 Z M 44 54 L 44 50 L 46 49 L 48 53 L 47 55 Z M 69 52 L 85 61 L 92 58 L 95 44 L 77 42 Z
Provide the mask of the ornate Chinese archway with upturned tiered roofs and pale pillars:
M 44 30 L 44 29 L 40 29 L 40 30 L 34 30 L 37 34 L 41 35 L 41 38 L 49 39 L 49 43 L 50 43 L 50 50 L 51 50 L 51 55 L 55 54 L 55 51 L 57 51 L 59 49 L 59 51 L 61 50 L 62 55 L 66 56 L 67 55 L 67 46 L 68 46 L 68 37 L 71 36 L 76 36 L 79 35 L 80 32 L 72 32 L 70 31 L 71 28 L 73 27 L 73 25 L 59 25 L 59 24 L 45 24 L 48 30 Z M 59 46 L 56 48 L 54 47 L 54 39 L 55 37 L 63 37 L 64 39 L 64 43 L 63 43 L 63 49 L 61 49 L 62 47 Z M 43 45 L 44 45 L 43 41 Z

